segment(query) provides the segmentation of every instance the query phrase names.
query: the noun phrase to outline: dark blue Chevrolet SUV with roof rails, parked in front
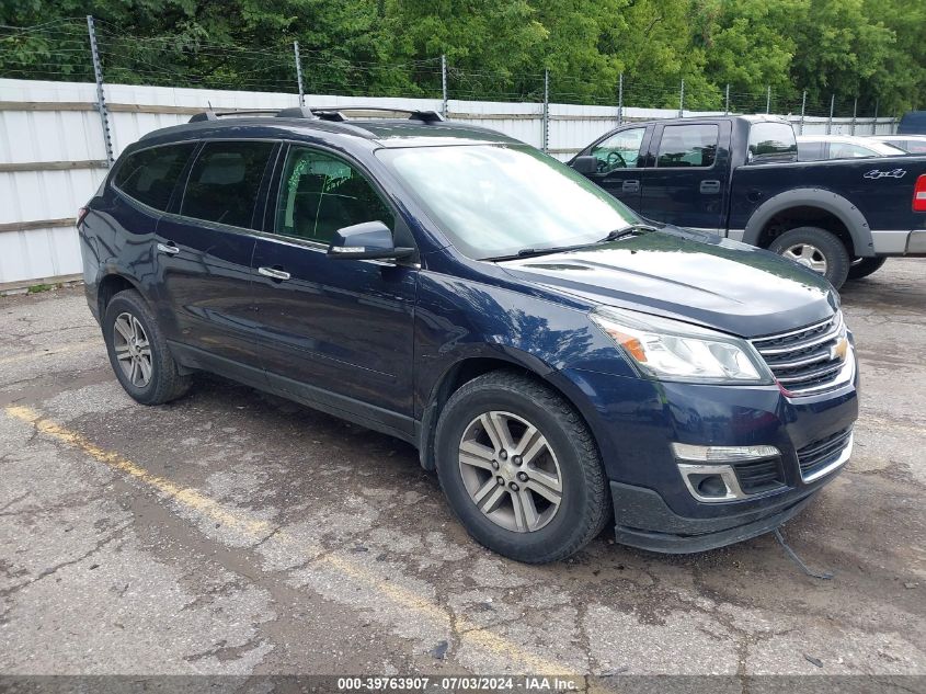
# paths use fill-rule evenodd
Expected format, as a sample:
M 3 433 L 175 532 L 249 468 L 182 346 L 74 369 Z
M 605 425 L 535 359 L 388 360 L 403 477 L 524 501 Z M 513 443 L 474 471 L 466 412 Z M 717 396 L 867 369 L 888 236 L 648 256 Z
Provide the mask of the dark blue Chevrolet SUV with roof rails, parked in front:
M 128 147 L 79 226 L 133 398 L 206 371 L 411 442 L 522 561 L 611 520 L 658 551 L 745 539 L 851 452 L 823 277 L 433 112 L 201 114 Z

